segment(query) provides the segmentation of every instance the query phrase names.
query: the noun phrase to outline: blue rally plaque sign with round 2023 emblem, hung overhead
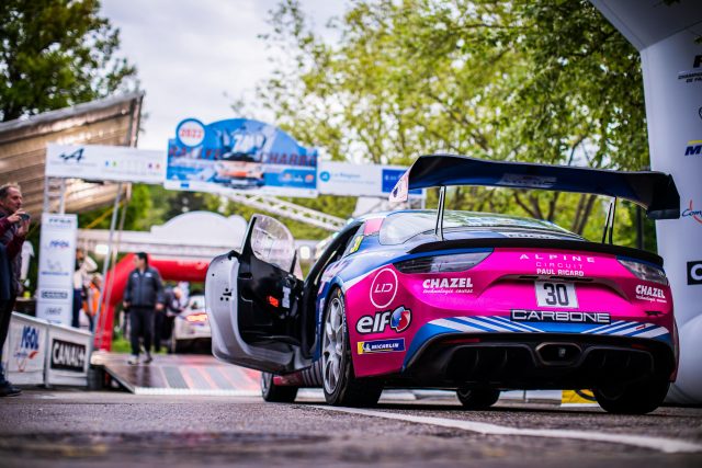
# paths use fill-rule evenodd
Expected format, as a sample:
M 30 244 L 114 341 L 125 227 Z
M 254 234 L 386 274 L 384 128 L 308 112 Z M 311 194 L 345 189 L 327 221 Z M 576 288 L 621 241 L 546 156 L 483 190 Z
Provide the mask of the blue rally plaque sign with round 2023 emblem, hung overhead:
M 178 124 L 168 141 L 166 187 L 262 195 L 317 195 L 317 150 L 248 118 Z

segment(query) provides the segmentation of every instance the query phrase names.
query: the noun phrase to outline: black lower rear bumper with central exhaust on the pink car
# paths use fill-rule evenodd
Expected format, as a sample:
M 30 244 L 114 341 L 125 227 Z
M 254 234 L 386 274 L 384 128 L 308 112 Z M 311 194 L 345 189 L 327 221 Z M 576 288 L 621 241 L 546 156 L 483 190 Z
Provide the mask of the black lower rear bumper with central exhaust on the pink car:
M 666 343 L 574 334 L 442 334 L 407 362 L 401 378 L 431 387 L 593 388 L 631 384 L 676 368 Z

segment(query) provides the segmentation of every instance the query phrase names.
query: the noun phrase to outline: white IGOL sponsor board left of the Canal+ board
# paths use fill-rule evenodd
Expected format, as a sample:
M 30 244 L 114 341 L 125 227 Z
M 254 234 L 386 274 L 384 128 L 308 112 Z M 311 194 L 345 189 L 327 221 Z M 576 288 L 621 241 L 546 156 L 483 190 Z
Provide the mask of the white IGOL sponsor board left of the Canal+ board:
M 12 313 L 10 331 L 2 349 L 7 378 L 16 385 L 44 384 L 48 324 L 43 320 Z

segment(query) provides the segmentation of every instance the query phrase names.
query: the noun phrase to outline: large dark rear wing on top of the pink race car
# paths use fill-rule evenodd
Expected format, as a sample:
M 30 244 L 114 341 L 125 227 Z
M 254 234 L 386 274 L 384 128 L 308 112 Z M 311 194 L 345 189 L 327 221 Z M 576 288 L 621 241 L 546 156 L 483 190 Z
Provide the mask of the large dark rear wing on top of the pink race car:
M 641 205 L 650 219 L 680 217 L 680 195 L 663 172 L 607 171 L 530 162 L 486 161 L 456 155 L 428 155 L 403 174 L 390 202 L 406 202 L 410 190 L 449 185 L 486 185 L 591 193 Z

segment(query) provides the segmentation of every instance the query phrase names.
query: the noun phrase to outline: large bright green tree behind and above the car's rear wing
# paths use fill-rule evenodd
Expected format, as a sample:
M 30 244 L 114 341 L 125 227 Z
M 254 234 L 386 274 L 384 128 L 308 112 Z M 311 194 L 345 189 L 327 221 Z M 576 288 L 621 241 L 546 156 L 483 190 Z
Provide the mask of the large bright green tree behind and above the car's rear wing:
M 279 66 L 259 95 L 276 123 L 332 159 L 648 161 L 638 54 L 587 0 L 359 0 L 331 23 L 335 44 L 285 0 L 264 39 Z M 589 195 L 460 187 L 450 203 L 590 238 L 604 217 Z

